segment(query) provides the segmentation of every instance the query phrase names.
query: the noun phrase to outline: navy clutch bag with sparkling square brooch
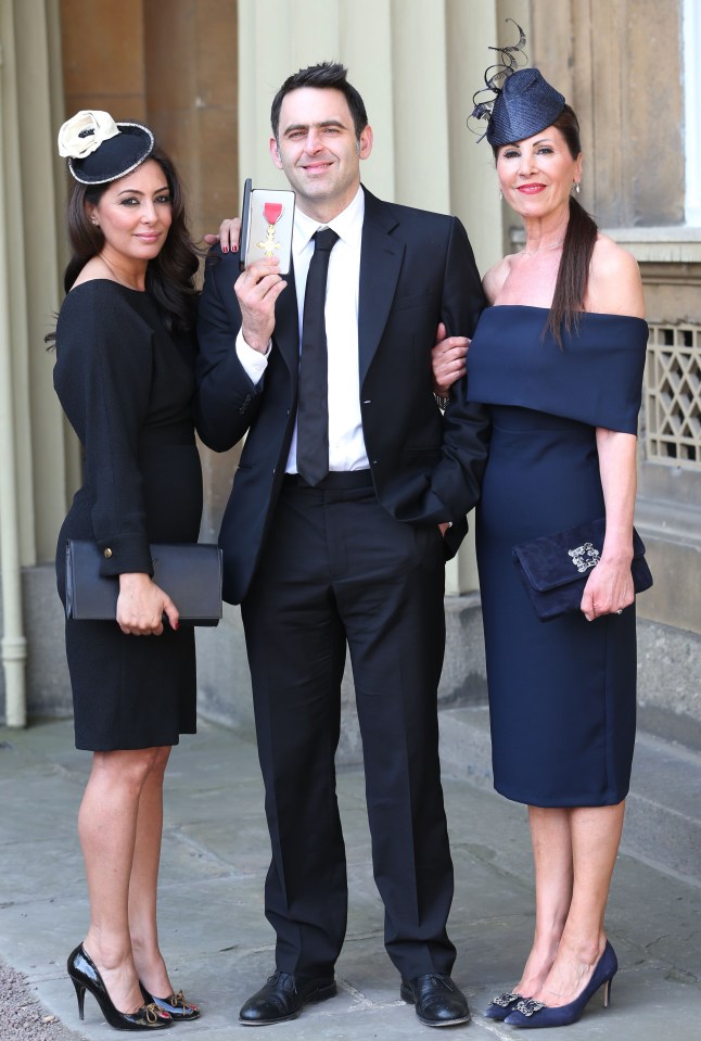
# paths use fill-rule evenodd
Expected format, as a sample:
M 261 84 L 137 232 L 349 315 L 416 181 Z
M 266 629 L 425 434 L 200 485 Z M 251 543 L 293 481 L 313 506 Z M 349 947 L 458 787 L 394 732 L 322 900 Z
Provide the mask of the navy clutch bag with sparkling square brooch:
M 604 533 L 606 519 L 601 517 L 513 547 L 513 562 L 540 621 L 579 610 L 589 572 L 601 557 Z M 645 546 L 635 528 L 630 573 L 636 593 L 652 585 Z

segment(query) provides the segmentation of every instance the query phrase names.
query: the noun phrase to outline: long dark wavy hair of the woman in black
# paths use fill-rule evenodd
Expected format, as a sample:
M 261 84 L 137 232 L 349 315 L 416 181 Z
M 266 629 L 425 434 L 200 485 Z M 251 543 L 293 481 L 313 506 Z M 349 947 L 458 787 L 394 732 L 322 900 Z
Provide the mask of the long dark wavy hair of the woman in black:
M 150 160 L 161 166 L 170 193 L 171 223 L 163 249 L 146 267 L 146 291 L 154 299 L 168 332 L 187 332 L 194 327 L 197 290 L 194 276 L 200 264 L 200 251 L 188 230 L 184 195 L 180 178 L 171 161 L 155 148 Z M 146 160 L 148 162 L 148 160 Z M 114 183 L 81 185 L 74 180 L 71 186 L 66 211 L 66 228 L 73 250 L 63 276 L 63 288 L 67 293 L 88 261 L 102 250 L 104 236 L 88 216 L 87 205 L 97 206 L 103 194 Z M 44 337 L 53 344 L 55 332 Z

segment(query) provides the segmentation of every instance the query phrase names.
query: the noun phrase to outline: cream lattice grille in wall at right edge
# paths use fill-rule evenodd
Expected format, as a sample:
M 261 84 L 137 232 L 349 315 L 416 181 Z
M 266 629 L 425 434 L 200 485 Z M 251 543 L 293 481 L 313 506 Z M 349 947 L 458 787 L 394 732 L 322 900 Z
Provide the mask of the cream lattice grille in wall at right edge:
M 648 459 L 701 470 L 701 326 L 650 326 Z

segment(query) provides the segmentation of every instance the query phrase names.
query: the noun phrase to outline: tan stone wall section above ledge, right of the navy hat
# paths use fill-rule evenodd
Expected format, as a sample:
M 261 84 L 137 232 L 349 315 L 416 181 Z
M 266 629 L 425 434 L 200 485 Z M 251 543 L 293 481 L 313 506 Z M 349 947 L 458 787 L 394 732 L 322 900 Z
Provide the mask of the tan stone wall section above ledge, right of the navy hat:
M 684 220 L 678 0 L 531 8 L 532 62 L 581 120 L 583 205 L 602 228 Z

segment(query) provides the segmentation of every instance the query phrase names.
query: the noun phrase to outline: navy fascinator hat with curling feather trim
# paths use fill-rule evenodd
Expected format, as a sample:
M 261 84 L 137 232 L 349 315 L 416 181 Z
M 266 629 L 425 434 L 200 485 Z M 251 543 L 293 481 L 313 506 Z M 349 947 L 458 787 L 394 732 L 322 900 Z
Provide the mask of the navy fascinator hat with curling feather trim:
M 513 22 L 513 18 L 507 21 Z M 493 148 L 533 137 L 555 123 L 565 105 L 563 94 L 550 86 L 538 68 L 519 68 L 518 55 L 527 61 L 522 50 L 526 39 L 521 26 L 513 24 L 521 34 L 519 42 L 489 48 L 498 51 L 501 62 L 489 65 L 484 74 L 486 86 L 472 99 L 474 109 L 470 118 L 487 120 L 486 138 Z M 494 97 L 479 101 L 485 93 Z

